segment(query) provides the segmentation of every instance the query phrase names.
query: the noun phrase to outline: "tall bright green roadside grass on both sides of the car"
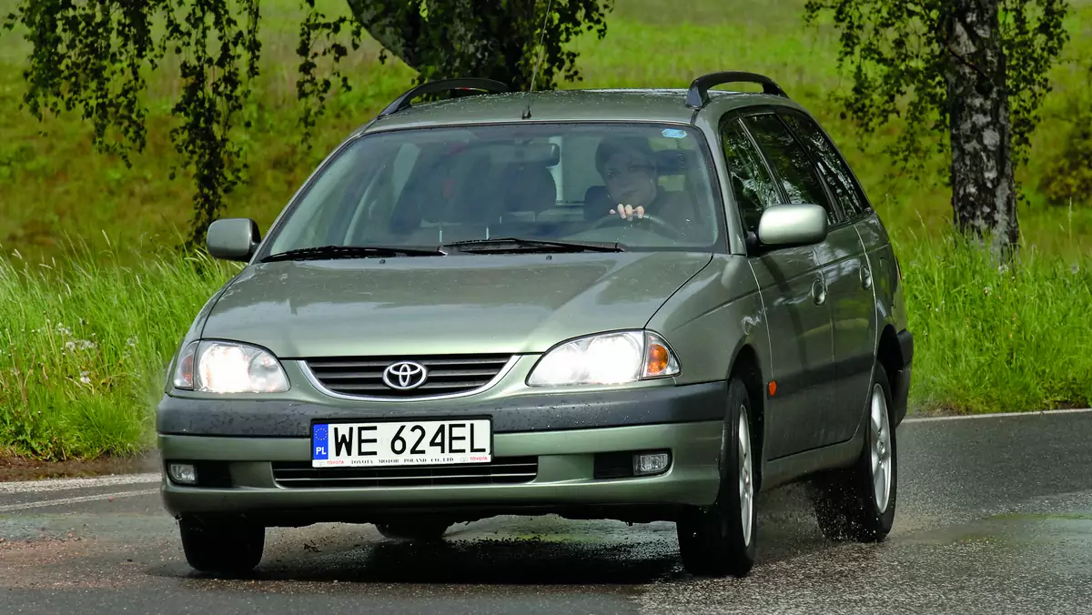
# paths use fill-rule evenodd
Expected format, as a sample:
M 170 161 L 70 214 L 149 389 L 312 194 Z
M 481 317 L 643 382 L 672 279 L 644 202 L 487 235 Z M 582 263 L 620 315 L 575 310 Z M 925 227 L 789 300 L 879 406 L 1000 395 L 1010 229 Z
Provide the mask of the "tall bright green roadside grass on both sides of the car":
M 1092 259 L 1029 247 L 1016 270 L 998 271 L 951 236 L 903 230 L 897 247 L 917 348 L 914 412 L 1089 404 Z M 63 270 L 0 261 L 0 293 L 15 298 L 0 307 L 0 450 L 68 459 L 154 443 L 165 366 L 234 265 L 167 253 L 98 264 L 118 251 L 78 249 Z

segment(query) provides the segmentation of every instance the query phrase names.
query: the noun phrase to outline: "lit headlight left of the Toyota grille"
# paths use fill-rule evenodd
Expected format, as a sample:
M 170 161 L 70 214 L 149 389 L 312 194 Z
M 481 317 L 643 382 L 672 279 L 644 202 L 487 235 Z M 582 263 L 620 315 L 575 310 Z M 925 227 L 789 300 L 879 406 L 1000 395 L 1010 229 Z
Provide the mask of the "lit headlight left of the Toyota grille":
M 192 342 L 182 350 L 174 385 L 207 393 L 283 393 L 288 377 L 262 348 L 233 342 Z

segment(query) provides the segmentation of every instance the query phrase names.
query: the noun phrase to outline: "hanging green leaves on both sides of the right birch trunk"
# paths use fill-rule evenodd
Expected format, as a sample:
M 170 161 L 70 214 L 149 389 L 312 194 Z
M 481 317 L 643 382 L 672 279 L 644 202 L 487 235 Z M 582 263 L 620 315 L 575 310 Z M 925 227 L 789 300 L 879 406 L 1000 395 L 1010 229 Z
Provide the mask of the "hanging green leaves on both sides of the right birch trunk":
M 1066 0 L 978 0 L 999 2 L 1005 83 L 1012 122 L 1013 163 L 1026 159 L 1029 139 L 1047 71 L 1068 40 Z M 946 75 L 969 62 L 948 38 L 956 3 L 950 0 L 808 0 L 806 21 L 829 11 L 841 31 L 839 69 L 847 66 L 853 86 L 836 96 L 862 134 L 874 134 L 893 118 L 905 128 L 888 153 L 916 175 L 930 150 L 943 153 L 950 130 Z

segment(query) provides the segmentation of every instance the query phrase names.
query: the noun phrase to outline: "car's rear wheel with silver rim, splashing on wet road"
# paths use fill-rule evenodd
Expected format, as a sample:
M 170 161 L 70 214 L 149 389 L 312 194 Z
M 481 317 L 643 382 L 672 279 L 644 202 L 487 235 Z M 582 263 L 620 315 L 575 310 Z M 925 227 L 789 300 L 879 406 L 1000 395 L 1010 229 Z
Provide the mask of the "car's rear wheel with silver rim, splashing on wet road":
M 898 443 L 891 428 L 891 385 L 878 362 L 873 368 L 869 391 L 865 417 L 867 431 L 860 457 L 853 466 L 830 473 L 814 485 L 816 521 L 829 540 L 880 542 L 894 523 L 899 495 Z M 875 465 L 874 459 L 878 462 Z

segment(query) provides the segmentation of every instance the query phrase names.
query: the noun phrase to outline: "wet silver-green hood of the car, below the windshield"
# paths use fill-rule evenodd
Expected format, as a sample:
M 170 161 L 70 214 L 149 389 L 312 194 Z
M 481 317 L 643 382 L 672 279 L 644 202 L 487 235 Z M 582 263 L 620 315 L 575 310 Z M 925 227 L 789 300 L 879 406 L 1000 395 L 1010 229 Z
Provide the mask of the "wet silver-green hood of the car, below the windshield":
M 259 263 L 202 336 L 282 358 L 534 353 L 642 328 L 710 253 L 475 255 Z

